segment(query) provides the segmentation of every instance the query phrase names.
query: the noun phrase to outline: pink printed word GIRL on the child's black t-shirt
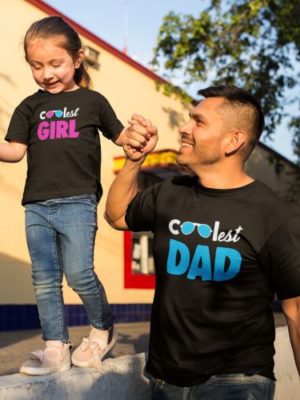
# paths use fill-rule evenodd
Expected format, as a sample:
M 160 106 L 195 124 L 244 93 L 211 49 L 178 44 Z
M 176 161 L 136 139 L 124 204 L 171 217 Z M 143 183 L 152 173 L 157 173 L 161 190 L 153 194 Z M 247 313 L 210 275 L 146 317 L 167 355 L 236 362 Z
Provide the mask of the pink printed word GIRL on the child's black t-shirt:
M 79 132 L 76 131 L 76 120 L 68 121 L 42 121 L 39 123 L 37 135 L 40 140 L 47 139 L 76 139 Z

